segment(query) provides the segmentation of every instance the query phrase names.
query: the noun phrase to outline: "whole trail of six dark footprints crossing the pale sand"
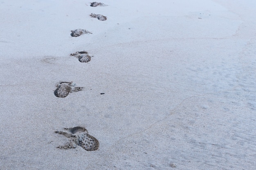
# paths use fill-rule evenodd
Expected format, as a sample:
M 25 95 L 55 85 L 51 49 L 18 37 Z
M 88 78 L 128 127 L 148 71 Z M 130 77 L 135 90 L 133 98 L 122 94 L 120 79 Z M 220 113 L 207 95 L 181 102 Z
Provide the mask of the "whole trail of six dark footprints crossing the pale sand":
M 91 7 L 97 7 L 97 6 L 108 6 L 106 4 L 103 4 L 101 2 L 91 2 Z M 97 18 L 98 20 L 105 21 L 107 20 L 107 17 L 104 15 L 97 15 L 97 14 L 90 14 L 92 18 Z M 87 31 L 85 29 L 75 29 L 71 31 L 72 37 L 79 37 L 82 34 L 92 34 L 92 32 Z M 88 55 L 88 52 L 86 51 L 77 51 L 75 53 L 70 54 L 71 56 L 74 56 L 78 58 L 79 62 L 90 62 L 91 56 Z M 93 57 L 93 56 L 92 56 Z M 58 82 L 55 84 L 56 89 L 54 91 L 54 95 L 56 97 L 67 97 L 69 93 L 82 91 L 84 87 L 78 87 L 74 82 Z M 58 134 L 62 134 L 65 137 L 70 138 L 70 142 L 68 144 L 65 144 L 64 146 L 58 146 L 57 148 L 61 149 L 70 149 L 70 148 L 76 148 L 77 146 L 81 146 L 83 149 L 88 151 L 94 151 L 99 148 L 99 141 L 88 134 L 88 131 L 84 127 L 74 127 L 74 128 L 64 128 L 65 131 L 58 131 L 55 132 Z

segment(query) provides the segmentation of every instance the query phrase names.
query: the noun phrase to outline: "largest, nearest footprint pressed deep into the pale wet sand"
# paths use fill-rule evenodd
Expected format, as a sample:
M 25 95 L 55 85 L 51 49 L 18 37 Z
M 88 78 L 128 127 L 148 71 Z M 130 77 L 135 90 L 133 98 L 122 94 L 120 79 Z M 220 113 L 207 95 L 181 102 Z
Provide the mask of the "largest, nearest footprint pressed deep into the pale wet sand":
M 76 148 L 77 146 L 81 146 L 83 149 L 88 151 L 94 151 L 99 148 L 99 141 L 88 134 L 88 131 L 80 126 L 74 128 L 64 128 L 67 130 L 66 132 L 58 131 L 55 132 L 58 134 L 62 134 L 65 137 L 71 138 L 68 144 L 64 146 L 58 146 L 60 149 L 70 149 Z

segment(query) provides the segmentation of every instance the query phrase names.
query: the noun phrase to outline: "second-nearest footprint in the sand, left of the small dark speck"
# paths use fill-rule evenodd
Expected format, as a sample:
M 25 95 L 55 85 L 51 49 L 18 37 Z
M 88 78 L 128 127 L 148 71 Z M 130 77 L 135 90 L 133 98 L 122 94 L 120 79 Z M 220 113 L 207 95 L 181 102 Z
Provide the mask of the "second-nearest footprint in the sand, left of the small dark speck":
M 76 87 L 73 82 L 58 82 L 55 84 L 57 87 L 54 91 L 56 97 L 67 97 L 70 92 L 82 91 L 84 87 Z

